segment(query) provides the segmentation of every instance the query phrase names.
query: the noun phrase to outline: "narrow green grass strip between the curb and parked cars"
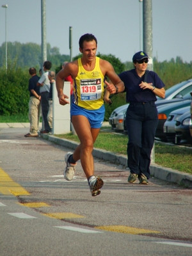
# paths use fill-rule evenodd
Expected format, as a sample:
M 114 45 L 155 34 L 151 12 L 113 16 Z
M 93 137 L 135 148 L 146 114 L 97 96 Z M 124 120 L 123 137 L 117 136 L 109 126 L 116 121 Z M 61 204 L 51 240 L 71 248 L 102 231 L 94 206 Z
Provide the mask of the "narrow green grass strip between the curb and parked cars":
M 59 138 L 79 142 L 79 138 L 71 133 L 56 135 Z M 100 131 L 95 148 L 102 148 L 114 153 L 127 156 L 127 136 L 123 134 L 114 134 L 111 132 Z M 172 168 L 180 172 L 192 174 L 192 149 L 166 145 L 162 143 L 155 144 L 155 162 L 160 166 Z

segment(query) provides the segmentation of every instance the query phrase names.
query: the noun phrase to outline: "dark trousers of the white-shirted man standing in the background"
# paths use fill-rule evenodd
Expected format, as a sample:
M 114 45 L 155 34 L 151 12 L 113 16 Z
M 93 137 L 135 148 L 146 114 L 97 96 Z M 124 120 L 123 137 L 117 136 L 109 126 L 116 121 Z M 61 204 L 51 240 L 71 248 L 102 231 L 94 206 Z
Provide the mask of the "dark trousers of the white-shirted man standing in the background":
M 42 115 L 44 118 L 44 128 L 45 130 L 51 132 L 51 127 L 49 126 L 49 122 L 47 120 L 47 115 L 49 112 L 49 92 L 42 92 L 41 95 L 41 104 L 42 104 Z

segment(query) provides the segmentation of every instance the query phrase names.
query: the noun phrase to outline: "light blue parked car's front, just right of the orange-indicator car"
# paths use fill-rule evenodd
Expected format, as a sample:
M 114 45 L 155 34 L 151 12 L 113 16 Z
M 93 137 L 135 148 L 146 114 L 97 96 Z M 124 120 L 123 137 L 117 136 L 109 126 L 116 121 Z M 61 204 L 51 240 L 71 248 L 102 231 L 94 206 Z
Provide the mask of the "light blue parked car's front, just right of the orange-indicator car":
M 164 122 L 163 125 L 163 132 L 166 135 L 166 140 L 168 142 L 175 143 L 175 124 L 179 116 L 183 115 L 184 113 L 189 113 L 189 107 L 179 108 L 170 113 L 168 115 L 167 120 Z

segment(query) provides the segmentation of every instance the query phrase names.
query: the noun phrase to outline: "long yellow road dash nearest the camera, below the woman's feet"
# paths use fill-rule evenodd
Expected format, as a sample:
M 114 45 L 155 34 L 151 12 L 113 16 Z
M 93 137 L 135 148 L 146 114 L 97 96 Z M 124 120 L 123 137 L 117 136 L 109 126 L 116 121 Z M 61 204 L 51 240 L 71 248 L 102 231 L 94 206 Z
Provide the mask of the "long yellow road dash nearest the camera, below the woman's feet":
M 159 231 L 155 231 L 155 230 L 132 228 L 132 227 L 127 227 L 127 226 L 100 226 L 100 227 L 95 227 L 95 228 L 106 230 L 106 231 L 112 231 L 112 232 L 132 234 L 132 235 L 147 234 L 147 233 L 160 233 Z

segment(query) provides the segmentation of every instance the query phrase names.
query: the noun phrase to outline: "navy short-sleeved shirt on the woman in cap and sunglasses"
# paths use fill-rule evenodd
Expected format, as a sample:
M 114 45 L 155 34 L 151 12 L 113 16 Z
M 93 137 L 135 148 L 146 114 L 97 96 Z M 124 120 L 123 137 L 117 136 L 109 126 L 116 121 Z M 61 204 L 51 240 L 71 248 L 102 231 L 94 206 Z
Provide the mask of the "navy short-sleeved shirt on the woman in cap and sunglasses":
M 143 90 L 140 88 L 139 84 L 144 81 L 145 75 L 142 77 L 138 76 L 135 68 L 122 72 L 118 76 L 125 85 L 126 102 L 148 102 L 157 100 L 156 95 L 152 90 Z M 161 81 L 159 76 L 153 71 L 148 72 L 147 83 L 150 83 L 152 86 L 156 86 L 156 88 L 159 89 L 165 86 L 163 81 Z

